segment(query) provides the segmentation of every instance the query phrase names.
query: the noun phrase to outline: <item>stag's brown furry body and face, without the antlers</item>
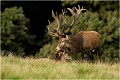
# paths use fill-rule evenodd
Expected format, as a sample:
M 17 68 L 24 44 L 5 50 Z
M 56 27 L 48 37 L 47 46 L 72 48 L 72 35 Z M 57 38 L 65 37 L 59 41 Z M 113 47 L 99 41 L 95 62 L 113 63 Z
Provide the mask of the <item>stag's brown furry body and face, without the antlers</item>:
M 60 45 L 63 41 L 65 44 Z M 57 47 L 60 47 L 60 49 L 67 47 L 70 53 L 87 53 L 88 57 L 90 51 L 95 50 L 97 56 L 100 57 L 100 34 L 96 31 L 81 31 L 74 35 L 68 35 L 66 38 L 60 38 Z

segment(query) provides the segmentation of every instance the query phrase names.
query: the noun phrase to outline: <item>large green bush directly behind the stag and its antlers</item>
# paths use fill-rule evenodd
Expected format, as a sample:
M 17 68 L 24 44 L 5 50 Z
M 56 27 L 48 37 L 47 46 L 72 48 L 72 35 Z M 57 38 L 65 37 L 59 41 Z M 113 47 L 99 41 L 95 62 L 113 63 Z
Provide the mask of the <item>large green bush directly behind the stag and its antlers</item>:
M 64 3 L 64 2 L 63 2 Z M 70 3 L 70 2 L 69 2 Z M 85 3 L 85 2 L 84 2 Z M 86 2 L 86 4 L 88 1 Z M 81 13 L 71 32 L 77 33 L 83 30 L 95 30 L 101 34 L 102 39 L 102 60 L 103 61 L 119 61 L 119 10 L 118 3 L 114 2 L 89 2 L 93 5 L 84 13 Z M 113 4 L 113 5 L 111 5 Z M 102 5 L 102 6 L 101 6 Z M 116 6 L 115 6 L 116 5 Z M 86 5 L 87 6 L 87 5 Z M 101 7 L 100 7 L 101 6 Z M 98 8 L 94 11 L 95 8 Z M 61 15 L 61 14 L 60 14 Z M 67 22 L 71 22 L 70 15 L 66 16 Z M 55 27 L 57 24 L 52 22 L 48 26 Z M 52 39 L 54 40 L 54 38 Z M 51 43 L 51 42 L 50 42 Z M 54 46 L 56 43 L 46 44 L 46 46 Z M 45 50 L 43 46 L 41 50 Z M 40 51 L 41 51 L 40 50 Z M 54 48 L 55 50 L 55 48 Z M 44 53 L 44 51 L 42 51 Z

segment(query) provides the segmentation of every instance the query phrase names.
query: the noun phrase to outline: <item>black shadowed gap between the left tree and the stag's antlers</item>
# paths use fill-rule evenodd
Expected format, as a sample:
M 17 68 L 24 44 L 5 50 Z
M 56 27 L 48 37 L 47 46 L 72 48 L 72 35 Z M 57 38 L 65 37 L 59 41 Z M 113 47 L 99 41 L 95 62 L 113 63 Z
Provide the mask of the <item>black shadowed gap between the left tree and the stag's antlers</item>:
M 2 1 L 1 2 L 1 11 L 5 12 L 6 8 L 12 7 L 22 7 L 23 14 L 26 18 L 29 19 L 28 27 L 31 35 L 36 36 L 34 38 L 32 45 L 26 46 L 25 53 L 26 55 L 35 54 L 39 48 L 46 43 L 44 40 L 45 29 L 48 25 L 48 19 L 53 20 L 51 17 L 51 10 L 55 10 L 60 12 L 62 5 L 60 1 Z M 16 34 L 17 35 L 17 34 Z M 4 37 L 4 36 L 2 36 Z M 20 42 L 25 44 L 24 42 Z M 11 48 L 7 48 L 7 46 L 2 45 L 2 49 L 10 50 Z M 19 46 L 20 47 L 20 46 Z M 16 50 L 12 50 L 16 52 Z

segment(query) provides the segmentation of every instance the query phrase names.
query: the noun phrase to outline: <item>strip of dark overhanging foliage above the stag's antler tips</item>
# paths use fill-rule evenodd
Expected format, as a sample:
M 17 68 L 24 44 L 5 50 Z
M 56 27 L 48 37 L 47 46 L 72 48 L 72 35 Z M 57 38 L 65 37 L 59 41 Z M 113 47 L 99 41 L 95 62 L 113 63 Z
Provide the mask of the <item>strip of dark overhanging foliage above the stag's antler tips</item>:
M 63 7 L 69 7 L 69 6 L 84 6 L 89 11 L 96 12 L 96 11 L 107 11 L 107 10 L 115 10 L 119 8 L 119 0 L 116 1 L 77 1 L 77 0 L 63 0 L 62 6 Z

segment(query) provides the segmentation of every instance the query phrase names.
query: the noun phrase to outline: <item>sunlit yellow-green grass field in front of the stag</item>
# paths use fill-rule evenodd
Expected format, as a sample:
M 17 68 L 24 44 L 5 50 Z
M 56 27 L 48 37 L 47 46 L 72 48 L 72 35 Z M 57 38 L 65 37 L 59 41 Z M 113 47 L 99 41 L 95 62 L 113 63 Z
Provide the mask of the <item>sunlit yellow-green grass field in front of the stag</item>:
M 119 64 L 1 57 L 2 79 L 118 79 Z

